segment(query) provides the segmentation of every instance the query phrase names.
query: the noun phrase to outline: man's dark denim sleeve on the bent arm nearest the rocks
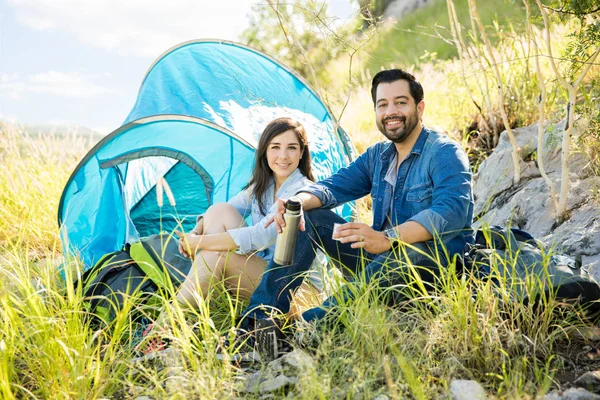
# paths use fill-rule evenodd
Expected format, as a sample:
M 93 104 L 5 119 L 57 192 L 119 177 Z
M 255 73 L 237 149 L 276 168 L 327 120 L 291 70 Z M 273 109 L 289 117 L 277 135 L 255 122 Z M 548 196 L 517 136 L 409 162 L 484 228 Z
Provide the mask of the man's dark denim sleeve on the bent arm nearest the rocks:
M 415 214 L 409 221 L 421 224 L 436 237 L 460 232 L 470 226 L 473 192 L 469 159 L 458 144 L 445 143 L 434 155 L 431 207 Z

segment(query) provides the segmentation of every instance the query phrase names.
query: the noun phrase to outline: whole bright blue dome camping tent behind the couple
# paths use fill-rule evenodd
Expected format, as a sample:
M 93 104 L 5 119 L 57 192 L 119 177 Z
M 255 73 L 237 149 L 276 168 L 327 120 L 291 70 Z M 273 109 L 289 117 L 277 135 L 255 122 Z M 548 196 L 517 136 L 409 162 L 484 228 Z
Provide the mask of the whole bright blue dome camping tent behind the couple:
M 289 68 L 238 43 L 175 46 L 147 72 L 123 126 L 75 168 L 58 223 L 68 254 L 86 268 L 140 237 L 191 229 L 195 216 L 248 182 L 258 137 L 289 116 L 306 128 L 317 179 L 354 157 L 354 148 L 315 91 Z M 164 177 L 175 207 L 158 206 Z M 350 217 L 351 209 L 338 210 Z

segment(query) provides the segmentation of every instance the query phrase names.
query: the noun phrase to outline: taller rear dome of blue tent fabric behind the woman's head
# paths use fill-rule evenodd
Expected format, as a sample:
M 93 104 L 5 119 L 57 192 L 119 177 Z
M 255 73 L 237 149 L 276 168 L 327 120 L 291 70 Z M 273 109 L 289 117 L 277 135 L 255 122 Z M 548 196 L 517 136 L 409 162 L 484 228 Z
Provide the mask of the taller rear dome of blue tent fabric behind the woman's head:
M 296 73 L 246 46 L 217 40 L 183 43 L 146 73 L 125 122 L 156 114 L 206 119 L 256 145 L 267 123 L 290 116 L 306 128 L 316 179 L 354 159 L 353 147 L 317 94 Z

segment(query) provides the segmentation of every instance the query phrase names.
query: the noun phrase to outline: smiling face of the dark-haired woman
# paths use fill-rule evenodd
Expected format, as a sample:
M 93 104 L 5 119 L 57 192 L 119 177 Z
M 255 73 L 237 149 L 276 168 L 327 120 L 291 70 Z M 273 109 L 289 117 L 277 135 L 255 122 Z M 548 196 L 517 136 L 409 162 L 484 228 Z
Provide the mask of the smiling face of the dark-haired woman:
M 300 141 L 291 129 L 275 136 L 267 146 L 267 163 L 279 181 L 298 168 L 301 158 Z

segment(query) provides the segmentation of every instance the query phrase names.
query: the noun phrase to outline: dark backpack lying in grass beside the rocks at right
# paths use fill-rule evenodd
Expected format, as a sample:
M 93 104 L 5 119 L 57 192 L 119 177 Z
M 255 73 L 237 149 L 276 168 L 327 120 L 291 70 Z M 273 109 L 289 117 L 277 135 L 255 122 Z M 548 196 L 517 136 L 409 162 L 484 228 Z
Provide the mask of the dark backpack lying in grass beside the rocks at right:
M 552 295 L 580 304 L 588 315 L 600 312 L 600 285 L 581 268 L 581 257 L 548 251 L 543 242 L 523 230 L 500 226 L 477 230 L 464 263 L 480 279 L 500 285 L 502 278 L 515 300 L 524 304 L 539 304 L 541 298 Z

